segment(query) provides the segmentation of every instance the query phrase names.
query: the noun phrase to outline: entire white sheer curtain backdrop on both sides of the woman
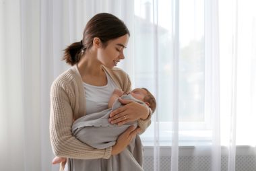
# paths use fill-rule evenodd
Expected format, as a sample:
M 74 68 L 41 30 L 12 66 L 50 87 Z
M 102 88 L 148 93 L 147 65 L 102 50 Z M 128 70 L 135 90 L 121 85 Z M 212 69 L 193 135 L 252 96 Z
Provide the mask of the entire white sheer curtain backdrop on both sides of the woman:
M 192 149 L 185 154 L 193 157 L 189 170 L 234 171 L 238 145 L 256 145 L 255 6 L 250 0 L 1 0 L 1 170 L 58 170 L 51 165 L 50 86 L 69 67 L 62 50 L 82 39 L 94 14 L 109 12 L 131 32 L 120 67 L 158 102 L 141 135 L 143 145 L 154 146 L 154 170 L 162 170 L 167 146 L 172 171 L 184 170 L 185 147 Z

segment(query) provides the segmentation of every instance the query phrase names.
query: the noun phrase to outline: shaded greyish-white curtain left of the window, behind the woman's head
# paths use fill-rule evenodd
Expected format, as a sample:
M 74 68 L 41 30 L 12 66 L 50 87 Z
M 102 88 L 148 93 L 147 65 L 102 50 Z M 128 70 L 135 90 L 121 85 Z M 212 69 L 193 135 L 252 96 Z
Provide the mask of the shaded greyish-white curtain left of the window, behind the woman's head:
M 1 170 L 59 170 L 51 165 L 51 83 L 69 67 L 63 49 L 82 40 L 86 23 L 100 12 L 117 15 L 133 35 L 133 1 L 0 1 Z M 133 63 L 132 49 L 123 67 Z M 132 67 L 126 71 L 133 75 Z

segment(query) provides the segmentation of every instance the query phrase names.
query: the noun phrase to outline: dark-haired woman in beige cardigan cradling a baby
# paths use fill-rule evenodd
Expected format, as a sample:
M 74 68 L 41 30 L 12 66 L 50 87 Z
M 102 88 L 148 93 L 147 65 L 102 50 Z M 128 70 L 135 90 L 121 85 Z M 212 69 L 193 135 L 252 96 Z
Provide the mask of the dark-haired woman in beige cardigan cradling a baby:
M 120 100 L 127 105 L 113 111 L 109 122 L 123 125 L 138 121 L 138 127 L 129 127 L 119 135 L 115 145 L 94 149 L 71 135 L 72 123 L 77 118 L 108 108 L 108 99 L 115 88 L 131 91 L 129 76 L 115 67 L 125 59 L 123 50 L 128 40 L 129 30 L 121 20 L 109 13 L 99 13 L 86 25 L 83 40 L 65 49 L 63 59 L 72 67 L 59 75 L 51 87 L 50 136 L 55 155 L 68 158 L 68 163 L 72 164 L 73 168 L 69 170 L 86 169 L 83 161 L 93 159 L 104 163 L 103 168 L 111 168 L 111 158 L 125 150 L 137 133 L 142 133 L 150 125 L 150 108 Z M 136 142 L 135 149 L 141 148 L 139 138 Z M 133 154 L 134 162 L 142 165 L 142 150 L 133 151 Z

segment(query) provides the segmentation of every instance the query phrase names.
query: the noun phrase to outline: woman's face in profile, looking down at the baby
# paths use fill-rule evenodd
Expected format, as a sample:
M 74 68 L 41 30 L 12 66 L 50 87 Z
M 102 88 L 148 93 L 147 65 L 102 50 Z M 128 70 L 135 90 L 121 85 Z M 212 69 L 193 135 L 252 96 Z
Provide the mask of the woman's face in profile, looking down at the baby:
M 117 66 L 121 59 L 125 59 L 123 50 L 126 48 L 128 40 L 128 34 L 114 40 L 109 40 L 105 48 L 98 48 L 98 60 L 108 68 Z

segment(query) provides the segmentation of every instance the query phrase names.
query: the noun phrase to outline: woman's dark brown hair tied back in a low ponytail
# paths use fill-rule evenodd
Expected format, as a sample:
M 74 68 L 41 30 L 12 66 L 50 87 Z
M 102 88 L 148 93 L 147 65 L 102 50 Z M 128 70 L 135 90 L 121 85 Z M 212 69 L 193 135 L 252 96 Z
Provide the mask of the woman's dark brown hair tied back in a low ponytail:
M 108 45 L 108 40 L 119 38 L 125 34 L 130 36 L 123 21 L 110 13 L 98 13 L 86 24 L 83 40 L 74 42 L 65 48 L 63 60 L 69 65 L 75 65 L 84 52 L 92 47 L 95 37 L 100 38 L 102 46 L 105 48 Z

